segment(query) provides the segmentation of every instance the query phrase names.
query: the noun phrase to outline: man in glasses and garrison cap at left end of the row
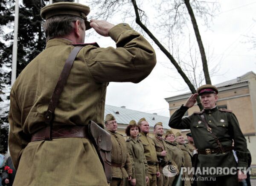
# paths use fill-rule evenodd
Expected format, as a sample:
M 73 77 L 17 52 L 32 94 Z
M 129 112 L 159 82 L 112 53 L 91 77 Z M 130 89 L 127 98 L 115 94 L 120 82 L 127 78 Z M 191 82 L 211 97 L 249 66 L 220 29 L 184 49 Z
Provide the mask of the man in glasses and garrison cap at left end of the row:
M 111 166 L 112 166 L 112 182 L 111 186 L 123 186 L 124 181 L 130 181 L 132 177 L 132 163 L 129 152 L 125 144 L 123 135 L 116 132 L 117 122 L 112 114 L 105 117 L 105 127 L 111 135 Z

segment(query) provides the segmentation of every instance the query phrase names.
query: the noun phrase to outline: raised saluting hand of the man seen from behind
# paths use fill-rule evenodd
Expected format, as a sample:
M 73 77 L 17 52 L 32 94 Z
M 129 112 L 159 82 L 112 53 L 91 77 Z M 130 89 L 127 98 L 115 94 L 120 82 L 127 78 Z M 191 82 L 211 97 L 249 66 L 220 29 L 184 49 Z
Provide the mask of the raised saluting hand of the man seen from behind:
M 108 23 L 107 21 L 102 20 L 90 20 L 90 26 L 100 35 L 109 36 L 109 30 L 113 28 L 112 23 Z

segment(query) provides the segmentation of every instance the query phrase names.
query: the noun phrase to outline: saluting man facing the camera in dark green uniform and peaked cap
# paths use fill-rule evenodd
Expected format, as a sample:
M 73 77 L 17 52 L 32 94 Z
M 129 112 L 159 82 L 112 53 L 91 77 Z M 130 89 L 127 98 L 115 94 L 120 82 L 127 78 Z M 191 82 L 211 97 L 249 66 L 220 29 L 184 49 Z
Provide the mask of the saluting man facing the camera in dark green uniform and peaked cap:
M 200 96 L 204 110 L 184 117 L 186 111 L 193 107 L 196 97 Z M 246 174 L 239 168 L 247 168 L 247 144 L 239 127 L 239 122 L 232 111 L 218 109 L 218 89 L 212 85 L 203 85 L 197 93 L 187 99 L 186 103 L 172 114 L 169 126 L 175 129 L 190 129 L 195 147 L 198 149 L 198 162 L 196 166 L 201 171 L 197 177 L 215 178 L 215 181 L 200 179 L 198 186 L 212 185 L 239 185 L 239 181 L 246 179 Z M 233 156 L 232 142 L 238 156 L 238 163 Z M 210 168 L 236 169 L 237 174 L 217 172 L 215 174 L 203 173 L 202 169 Z

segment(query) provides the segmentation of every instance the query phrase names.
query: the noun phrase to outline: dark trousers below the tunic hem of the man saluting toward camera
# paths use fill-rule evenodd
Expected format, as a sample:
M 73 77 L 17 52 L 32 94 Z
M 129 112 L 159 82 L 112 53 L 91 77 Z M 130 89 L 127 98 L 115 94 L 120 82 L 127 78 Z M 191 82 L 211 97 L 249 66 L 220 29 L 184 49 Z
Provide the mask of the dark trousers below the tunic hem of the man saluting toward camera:
M 199 178 L 197 178 L 197 186 L 239 186 L 237 175 L 217 176 L 212 177 L 212 180 L 210 178 L 205 180 L 204 177 Z

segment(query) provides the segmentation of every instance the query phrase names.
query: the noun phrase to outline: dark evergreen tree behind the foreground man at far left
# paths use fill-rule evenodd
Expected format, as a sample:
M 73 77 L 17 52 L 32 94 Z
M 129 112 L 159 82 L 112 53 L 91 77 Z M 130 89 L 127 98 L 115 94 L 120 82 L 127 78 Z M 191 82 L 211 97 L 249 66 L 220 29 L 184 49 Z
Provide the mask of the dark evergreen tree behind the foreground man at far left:
M 54 0 L 53 3 L 73 0 Z M 46 45 L 40 10 L 49 0 L 23 0 L 19 6 L 17 76 Z M 12 46 L 15 0 L 0 0 L 0 127 L 4 151 L 7 150 L 9 92 L 11 84 Z M 2 93 L 2 94 L 1 94 Z

